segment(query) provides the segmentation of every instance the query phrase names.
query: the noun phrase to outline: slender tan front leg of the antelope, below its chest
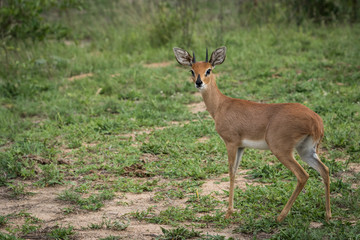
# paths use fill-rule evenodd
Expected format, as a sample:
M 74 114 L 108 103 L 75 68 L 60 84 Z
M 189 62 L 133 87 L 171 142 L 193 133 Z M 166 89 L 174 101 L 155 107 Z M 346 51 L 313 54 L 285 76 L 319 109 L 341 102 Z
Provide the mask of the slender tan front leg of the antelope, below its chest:
M 226 212 L 225 218 L 230 218 L 232 213 L 234 212 L 234 188 L 235 188 L 236 171 L 239 167 L 244 149 L 231 145 L 226 145 L 226 148 L 227 148 L 228 160 L 229 160 L 230 191 L 229 191 L 229 207 Z

